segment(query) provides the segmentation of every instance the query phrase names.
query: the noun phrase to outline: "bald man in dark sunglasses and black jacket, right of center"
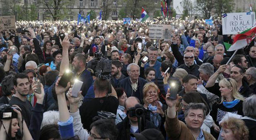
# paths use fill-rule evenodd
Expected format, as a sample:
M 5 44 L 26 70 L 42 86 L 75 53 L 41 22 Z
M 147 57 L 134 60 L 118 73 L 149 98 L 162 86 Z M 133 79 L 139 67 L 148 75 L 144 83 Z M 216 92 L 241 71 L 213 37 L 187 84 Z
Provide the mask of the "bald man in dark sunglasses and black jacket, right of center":
M 193 53 L 186 53 L 184 54 L 184 64 L 180 65 L 178 68 L 183 68 L 188 72 L 188 74 L 195 75 L 199 77 L 199 65 L 194 63 L 194 54 Z

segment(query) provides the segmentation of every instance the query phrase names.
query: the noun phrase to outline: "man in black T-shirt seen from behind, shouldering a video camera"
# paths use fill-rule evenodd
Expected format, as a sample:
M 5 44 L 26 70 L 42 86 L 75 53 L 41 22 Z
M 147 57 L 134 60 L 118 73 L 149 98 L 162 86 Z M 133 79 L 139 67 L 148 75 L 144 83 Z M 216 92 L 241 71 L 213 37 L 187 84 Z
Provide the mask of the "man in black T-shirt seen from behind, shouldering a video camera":
M 113 86 L 109 86 L 109 80 L 100 79 L 94 81 L 94 96 L 88 102 L 84 102 L 79 110 L 84 128 L 89 130 L 92 124 L 92 118 L 97 116 L 97 111 L 107 111 L 116 114 L 118 108 L 118 99 Z M 109 88 L 112 93 L 108 94 Z

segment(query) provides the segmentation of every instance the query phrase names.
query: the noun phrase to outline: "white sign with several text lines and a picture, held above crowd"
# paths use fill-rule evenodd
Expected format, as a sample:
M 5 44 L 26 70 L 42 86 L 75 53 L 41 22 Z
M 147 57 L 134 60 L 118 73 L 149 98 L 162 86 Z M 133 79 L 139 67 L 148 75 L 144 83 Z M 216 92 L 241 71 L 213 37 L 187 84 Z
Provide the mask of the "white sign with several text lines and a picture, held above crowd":
M 149 37 L 151 39 L 171 39 L 171 25 L 150 25 Z

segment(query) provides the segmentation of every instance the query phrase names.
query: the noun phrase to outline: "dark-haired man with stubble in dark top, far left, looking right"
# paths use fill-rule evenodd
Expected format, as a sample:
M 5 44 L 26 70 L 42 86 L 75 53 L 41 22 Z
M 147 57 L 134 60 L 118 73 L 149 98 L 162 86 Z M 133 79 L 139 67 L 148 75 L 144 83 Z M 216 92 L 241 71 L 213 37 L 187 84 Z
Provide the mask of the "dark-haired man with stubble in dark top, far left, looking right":
M 32 105 L 27 100 L 29 94 L 29 77 L 25 73 L 17 73 L 13 79 L 15 95 L 10 100 L 10 105 L 18 105 L 21 109 L 22 117 L 27 126 L 30 125 Z

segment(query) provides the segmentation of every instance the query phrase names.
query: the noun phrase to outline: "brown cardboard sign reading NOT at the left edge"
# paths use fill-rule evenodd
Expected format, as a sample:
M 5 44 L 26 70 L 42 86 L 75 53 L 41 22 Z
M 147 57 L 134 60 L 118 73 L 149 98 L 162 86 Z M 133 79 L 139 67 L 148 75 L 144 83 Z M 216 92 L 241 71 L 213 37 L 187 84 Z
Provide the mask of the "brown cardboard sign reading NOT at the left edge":
M 0 30 L 15 29 L 15 16 L 0 16 Z

